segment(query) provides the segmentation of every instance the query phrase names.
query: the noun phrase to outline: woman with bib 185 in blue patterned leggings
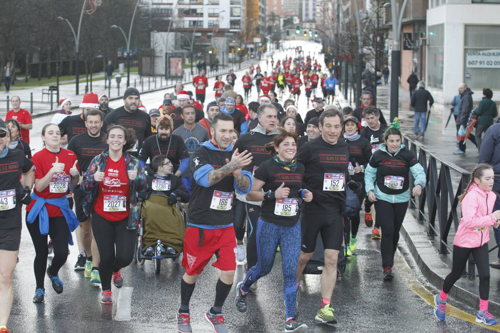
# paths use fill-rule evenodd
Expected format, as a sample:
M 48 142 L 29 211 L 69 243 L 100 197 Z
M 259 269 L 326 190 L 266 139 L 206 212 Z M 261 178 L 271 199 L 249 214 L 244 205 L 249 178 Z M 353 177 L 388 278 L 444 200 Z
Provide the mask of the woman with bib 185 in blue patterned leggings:
M 262 201 L 257 221 L 257 264 L 248 269 L 243 281 L 236 287 L 236 309 L 246 311 L 246 296 L 252 283 L 267 275 L 274 263 L 279 245 L 283 266 L 283 296 L 285 302 L 285 332 L 307 329 L 295 321 L 297 298 L 296 270 L 300 254 L 300 221 L 298 207 L 301 200 L 311 201 L 312 193 L 302 185 L 304 166 L 295 160 L 297 133 L 279 128 L 274 141 L 265 148 L 272 158 L 260 163 L 253 174 L 253 185 L 246 199 Z M 260 189 L 263 189 L 261 191 Z

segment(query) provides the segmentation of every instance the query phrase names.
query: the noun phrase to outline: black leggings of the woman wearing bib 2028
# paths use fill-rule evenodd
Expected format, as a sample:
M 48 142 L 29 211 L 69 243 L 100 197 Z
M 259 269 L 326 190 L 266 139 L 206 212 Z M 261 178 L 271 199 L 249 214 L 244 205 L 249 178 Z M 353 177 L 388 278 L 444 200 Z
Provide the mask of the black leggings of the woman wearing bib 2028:
M 26 217 L 28 212 L 26 212 Z M 33 261 L 34 277 L 36 279 L 36 288 L 43 288 L 43 280 L 45 278 L 45 269 L 47 267 L 47 235 L 40 233 L 38 216 L 33 223 L 26 221 L 31 240 L 33 241 L 35 257 Z M 48 234 L 52 239 L 54 257 L 50 263 L 50 274 L 57 275 L 60 267 L 67 259 L 67 240 L 69 237 L 69 227 L 67 226 L 64 216 L 55 216 L 48 218 Z

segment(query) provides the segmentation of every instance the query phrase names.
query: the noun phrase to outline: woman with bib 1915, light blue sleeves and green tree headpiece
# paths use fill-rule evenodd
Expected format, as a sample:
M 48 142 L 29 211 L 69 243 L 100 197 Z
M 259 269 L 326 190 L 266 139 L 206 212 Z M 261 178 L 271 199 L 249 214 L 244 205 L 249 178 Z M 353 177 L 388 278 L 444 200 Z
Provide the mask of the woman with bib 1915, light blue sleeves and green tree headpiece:
M 384 143 L 373 152 L 364 170 L 364 182 L 368 200 L 374 202 L 377 221 L 380 221 L 382 239 L 383 279 L 391 280 L 394 253 L 399 240 L 409 201 L 409 172 L 413 181 L 412 195 L 418 196 L 425 186 L 425 172 L 416 156 L 401 142 L 399 122 L 394 118 L 383 134 Z M 382 218 L 383 217 L 383 218 Z

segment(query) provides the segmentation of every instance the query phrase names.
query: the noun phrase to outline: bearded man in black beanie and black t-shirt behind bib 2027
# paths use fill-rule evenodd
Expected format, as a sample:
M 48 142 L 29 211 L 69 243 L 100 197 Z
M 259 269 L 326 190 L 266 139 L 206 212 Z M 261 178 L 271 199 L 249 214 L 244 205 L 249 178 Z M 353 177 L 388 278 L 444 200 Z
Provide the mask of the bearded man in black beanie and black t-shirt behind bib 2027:
M 137 157 L 144 139 L 151 136 L 151 118 L 146 112 L 140 111 L 139 90 L 129 87 L 123 94 L 123 106 L 114 109 L 104 118 L 109 124 L 121 125 L 125 128 L 133 128 L 135 131 L 135 144 L 127 152 Z

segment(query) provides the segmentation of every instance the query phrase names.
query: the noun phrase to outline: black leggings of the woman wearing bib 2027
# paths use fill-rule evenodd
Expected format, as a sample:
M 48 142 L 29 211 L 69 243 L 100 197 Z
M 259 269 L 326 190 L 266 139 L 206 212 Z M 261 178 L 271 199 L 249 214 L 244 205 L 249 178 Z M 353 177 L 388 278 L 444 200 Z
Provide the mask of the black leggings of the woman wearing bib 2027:
M 137 230 L 128 230 L 126 224 L 127 218 L 112 222 L 95 210 L 92 212 L 92 233 L 99 249 L 99 276 L 102 290 L 111 289 L 113 272 L 132 262 Z

